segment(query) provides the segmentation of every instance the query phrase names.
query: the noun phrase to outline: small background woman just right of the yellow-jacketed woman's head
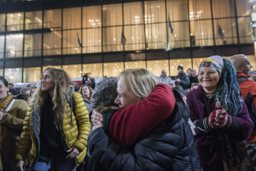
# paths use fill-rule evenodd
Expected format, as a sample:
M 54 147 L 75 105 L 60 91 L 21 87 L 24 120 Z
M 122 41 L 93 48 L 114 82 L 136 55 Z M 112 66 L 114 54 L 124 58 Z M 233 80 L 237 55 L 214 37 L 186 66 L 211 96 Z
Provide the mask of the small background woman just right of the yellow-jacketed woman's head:
M 86 109 L 90 113 L 92 112 L 92 103 L 91 103 L 91 97 L 92 97 L 92 87 L 89 85 L 82 85 L 79 89 L 80 94 L 83 96 L 84 103 L 86 104 Z

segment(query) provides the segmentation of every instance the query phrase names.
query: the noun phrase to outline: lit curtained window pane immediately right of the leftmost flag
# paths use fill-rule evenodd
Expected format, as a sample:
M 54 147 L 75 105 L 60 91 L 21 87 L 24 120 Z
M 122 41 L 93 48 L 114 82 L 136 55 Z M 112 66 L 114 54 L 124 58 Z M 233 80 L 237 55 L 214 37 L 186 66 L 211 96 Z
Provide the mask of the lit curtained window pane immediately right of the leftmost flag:
M 101 28 L 83 29 L 83 54 L 101 52 Z

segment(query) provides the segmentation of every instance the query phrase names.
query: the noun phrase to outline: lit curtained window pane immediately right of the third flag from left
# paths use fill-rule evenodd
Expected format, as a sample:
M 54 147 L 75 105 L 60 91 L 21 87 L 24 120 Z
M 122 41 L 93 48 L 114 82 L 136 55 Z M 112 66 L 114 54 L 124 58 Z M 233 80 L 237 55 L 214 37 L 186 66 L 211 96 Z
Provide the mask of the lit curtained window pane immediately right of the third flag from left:
M 172 22 L 173 33 L 170 32 L 168 27 L 168 39 L 170 48 L 182 48 L 190 47 L 191 40 L 189 34 L 189 23 L 188 22 Z

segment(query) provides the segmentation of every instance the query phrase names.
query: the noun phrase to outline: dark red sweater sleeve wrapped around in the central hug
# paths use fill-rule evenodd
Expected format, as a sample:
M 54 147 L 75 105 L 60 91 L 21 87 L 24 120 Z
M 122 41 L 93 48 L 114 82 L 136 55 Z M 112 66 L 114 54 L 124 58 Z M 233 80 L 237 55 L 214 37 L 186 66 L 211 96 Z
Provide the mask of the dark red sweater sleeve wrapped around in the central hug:
M 144 100 L 120 109 L 110 121 L 110 134 L 118 143 L 131 146 L 144 137 L 173 112 L 176 100 L 172 89 L 158 84 Z

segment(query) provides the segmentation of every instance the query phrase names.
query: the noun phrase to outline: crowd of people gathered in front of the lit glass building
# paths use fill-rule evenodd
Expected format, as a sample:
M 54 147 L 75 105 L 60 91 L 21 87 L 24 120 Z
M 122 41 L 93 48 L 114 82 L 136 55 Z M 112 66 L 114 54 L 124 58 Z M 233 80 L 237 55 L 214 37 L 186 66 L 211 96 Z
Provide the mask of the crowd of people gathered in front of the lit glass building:
M 46 68 L 19 92 L 0 77 L 0 171 L 256 170 L 256 82 L 246 55 L 198 74 L 127 69 L 80 86 Z

